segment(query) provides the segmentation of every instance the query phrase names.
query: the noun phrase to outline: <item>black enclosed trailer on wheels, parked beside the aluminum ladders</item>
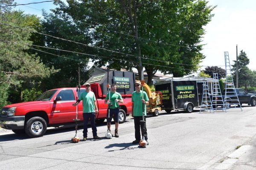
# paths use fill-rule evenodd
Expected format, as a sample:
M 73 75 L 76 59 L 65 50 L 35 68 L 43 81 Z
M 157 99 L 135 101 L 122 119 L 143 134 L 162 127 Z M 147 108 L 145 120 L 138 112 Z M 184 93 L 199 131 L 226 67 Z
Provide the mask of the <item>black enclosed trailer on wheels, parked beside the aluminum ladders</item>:
M 191 113 L 195 107 L 200 107 L 203 95 L 202 80 L 168 80 L 157 82 L 156 91 L 162 93 L 162 110 L 167 113 L 172 110 L 184 110 Z

